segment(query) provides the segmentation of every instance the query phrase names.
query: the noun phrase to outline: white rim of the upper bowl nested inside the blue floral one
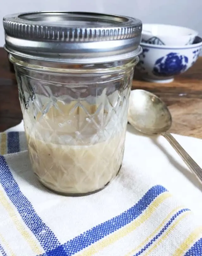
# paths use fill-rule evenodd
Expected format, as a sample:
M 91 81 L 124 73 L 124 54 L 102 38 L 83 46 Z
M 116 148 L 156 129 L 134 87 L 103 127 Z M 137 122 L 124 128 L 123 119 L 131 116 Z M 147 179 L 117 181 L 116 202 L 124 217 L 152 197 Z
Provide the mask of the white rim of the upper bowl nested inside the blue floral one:
M 181 28 L 183 30 L 188 30 L 189 32 L 187 33 L 190 33 L 190 34 L 187 34 L 187 35 L 179 35 L 178 37 L 190 37 L 190 36 L 197 36 L 199 34 L 198 31 L 192 29 L 192 28 L 186 28 L 186 27 L 181 27 L 181 26 L 176 26 L 176 25 L 171 25 L 171 24 L 162 24 L 162 23 L 143 23 L 142 24 L 142 34 L 144 35 L 153 35 L 152 33 L 147 33 L 145 32 L 144 30 L 144 26 L 145 25 L 149 25 L 149 26 L 165 26 L 165 27 L 173 27 L 173 28 Z M 172 36 L 172 35 L 169 35 L 169 34 L 157 34 L 156 35 L 157 37 L 171 37 L 171 38 L 176 38 L 176 36 Z

